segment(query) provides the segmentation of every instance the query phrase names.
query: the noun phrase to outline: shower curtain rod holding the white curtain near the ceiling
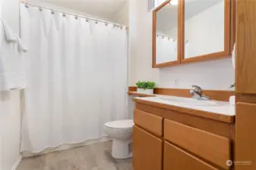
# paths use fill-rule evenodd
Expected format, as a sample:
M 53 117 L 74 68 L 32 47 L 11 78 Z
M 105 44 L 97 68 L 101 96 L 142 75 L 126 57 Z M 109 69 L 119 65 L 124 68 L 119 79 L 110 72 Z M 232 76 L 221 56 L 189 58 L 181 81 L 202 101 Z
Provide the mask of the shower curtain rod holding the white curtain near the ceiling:
M 29 6 L 37 7 L 37 8 L 44 8 L 44 9 L 48 9 L 48 10 L 54 11 L 54 12 L 59 12 L 59 13 L 63 13 L 63 14 L 73 15 L 74 17 L 82 17 L 82 18 L 85 18 L 87 20 L 93 20 L 96 23 L 100 22 L 100 23 L 106 23 L 106 24 L 113 24 L 114 26 L 125 27 L 125 29 L 128 29 L 128 26 L 124 26 L 124 25 L 119 24 L 119 23 L 112 23 L 112 22 L 109 22 L 109 21 L 106 21 L 106 20 L 98 20 L 96 18 L 86 17 L 86 16 L 79 15 L 79 14 L 72 14 L 72 13 L 65 12 L 65 11 L 60 11 L 60 10 L 55 10 L 55 9 L 51 9 L 51 8 L 46 8 L 46 7 L 43 7 L 43 6 L 40 6 L 40 5 L 34 5 L 34 4 L 30 3 L 30 2 L 23 2 L 23 1 L 20 1 L 20 2 L 23 3 L 24 5 L 26 5 L 27 8 L 29 8 Z

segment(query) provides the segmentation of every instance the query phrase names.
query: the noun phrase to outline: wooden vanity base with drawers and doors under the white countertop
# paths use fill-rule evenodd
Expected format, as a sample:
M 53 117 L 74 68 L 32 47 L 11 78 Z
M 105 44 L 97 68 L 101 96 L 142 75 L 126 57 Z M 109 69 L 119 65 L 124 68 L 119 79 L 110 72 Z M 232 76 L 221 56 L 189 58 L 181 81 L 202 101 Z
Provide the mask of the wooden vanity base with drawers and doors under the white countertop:
M 234 122 L 186 116 L 136 101 L 134 170 L 233 169 L 226 161 L 233 159 Z

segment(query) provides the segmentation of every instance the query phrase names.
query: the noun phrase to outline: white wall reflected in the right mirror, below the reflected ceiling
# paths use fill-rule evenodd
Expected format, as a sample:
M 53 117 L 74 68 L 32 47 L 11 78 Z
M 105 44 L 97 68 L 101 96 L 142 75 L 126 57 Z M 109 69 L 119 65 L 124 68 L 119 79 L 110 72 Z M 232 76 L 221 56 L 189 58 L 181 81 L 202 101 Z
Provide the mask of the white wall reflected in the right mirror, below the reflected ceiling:
M 185 20 L 185 39 L 185 58 L 224 51 L 224 1 Z

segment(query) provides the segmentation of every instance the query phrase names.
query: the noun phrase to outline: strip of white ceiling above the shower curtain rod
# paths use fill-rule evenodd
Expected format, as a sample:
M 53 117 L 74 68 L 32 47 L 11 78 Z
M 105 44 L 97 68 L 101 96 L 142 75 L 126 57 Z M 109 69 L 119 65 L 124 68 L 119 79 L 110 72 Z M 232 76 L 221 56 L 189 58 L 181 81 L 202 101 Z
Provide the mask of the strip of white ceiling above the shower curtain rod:
M 81 11 L 97 17 L 112 18 L 128 0 L 34 0 Z

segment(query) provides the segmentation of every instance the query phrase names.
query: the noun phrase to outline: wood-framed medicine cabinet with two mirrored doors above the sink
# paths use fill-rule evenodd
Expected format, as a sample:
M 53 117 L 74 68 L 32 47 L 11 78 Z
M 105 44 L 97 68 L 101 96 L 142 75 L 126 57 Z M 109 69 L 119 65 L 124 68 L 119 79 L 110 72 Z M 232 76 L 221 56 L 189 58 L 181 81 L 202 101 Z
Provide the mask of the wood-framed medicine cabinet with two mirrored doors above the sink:
M 153 68 L 230 57 L 235 0 L 167 0 L 153 11 Z

